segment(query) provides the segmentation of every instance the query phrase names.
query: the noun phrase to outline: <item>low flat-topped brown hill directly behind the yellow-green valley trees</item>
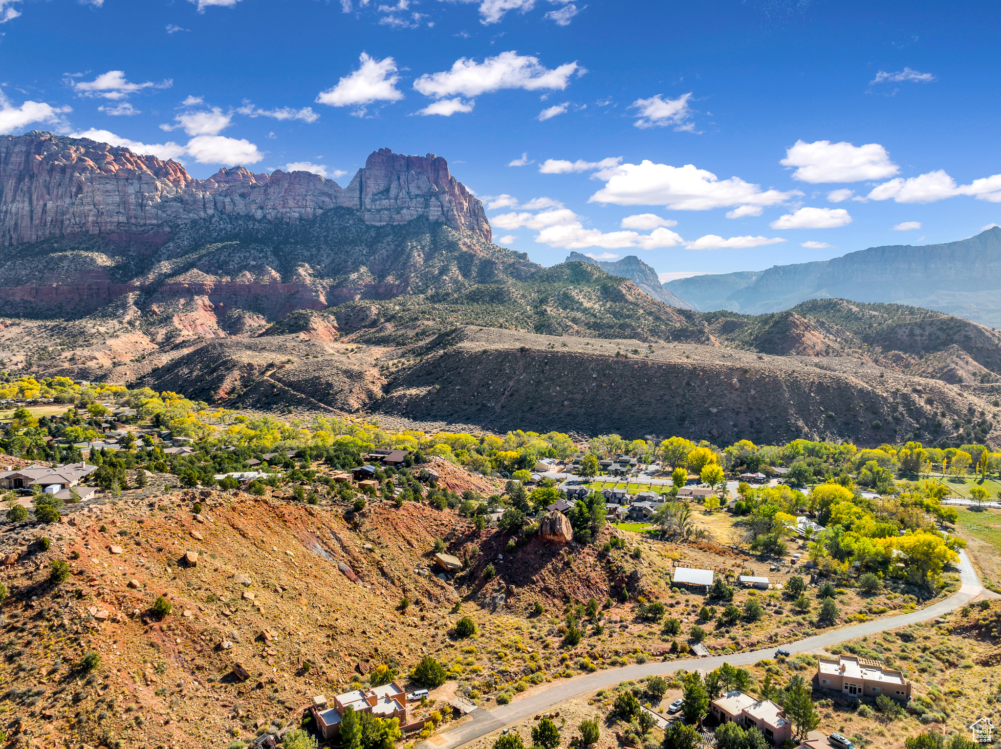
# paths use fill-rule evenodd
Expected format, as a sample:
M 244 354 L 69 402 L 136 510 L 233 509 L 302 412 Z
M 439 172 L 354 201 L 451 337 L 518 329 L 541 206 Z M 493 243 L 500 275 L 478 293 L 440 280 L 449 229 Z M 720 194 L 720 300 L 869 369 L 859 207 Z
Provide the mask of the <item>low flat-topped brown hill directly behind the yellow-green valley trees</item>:
M 425 324 L 205 344 L 139 380 L 230 407 L 374 413 L 424 428 L 551 430 L 630 439 L 912 436 L 1001 444 L 993 395 L 879 367 L 859 355 L 774 356 L 696 343 L 546 336 Z M 392 340 L 390 340 L 392 339 Z M 967 434 L 964 434 L 966 432 Z

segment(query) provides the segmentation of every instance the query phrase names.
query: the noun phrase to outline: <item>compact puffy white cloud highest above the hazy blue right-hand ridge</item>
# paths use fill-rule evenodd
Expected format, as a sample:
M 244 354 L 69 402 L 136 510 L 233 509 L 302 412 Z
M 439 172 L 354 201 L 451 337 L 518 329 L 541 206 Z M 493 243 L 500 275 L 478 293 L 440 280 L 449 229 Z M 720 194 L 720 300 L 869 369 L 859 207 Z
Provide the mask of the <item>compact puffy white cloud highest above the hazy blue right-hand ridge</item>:
M 797 167 L 793 179 L 811 184 L 885 179 L 900 171 L 879 143 L 854 146 L 829 140 L 814 143 L 798 140 L 786 149 L 786 158 L 779 163 Z

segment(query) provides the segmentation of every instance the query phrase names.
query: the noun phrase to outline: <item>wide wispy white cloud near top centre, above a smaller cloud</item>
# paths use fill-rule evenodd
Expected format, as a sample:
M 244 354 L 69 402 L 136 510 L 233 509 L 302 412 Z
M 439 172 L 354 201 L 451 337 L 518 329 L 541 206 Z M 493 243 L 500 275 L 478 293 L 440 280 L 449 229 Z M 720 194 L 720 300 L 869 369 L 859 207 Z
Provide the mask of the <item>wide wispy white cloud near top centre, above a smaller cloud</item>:
M 487 57 L 481 63 L 461 57 L 452 63 L 450 70 L 420 76 L 413 82 L 413 88 L 435 99 L 478 96 L 502 89 L 563 91 L 570 84 L 571 76 L 583 72 L 576 62 L 551 70 L 542 65 L 538 57 L 511 51 Z

